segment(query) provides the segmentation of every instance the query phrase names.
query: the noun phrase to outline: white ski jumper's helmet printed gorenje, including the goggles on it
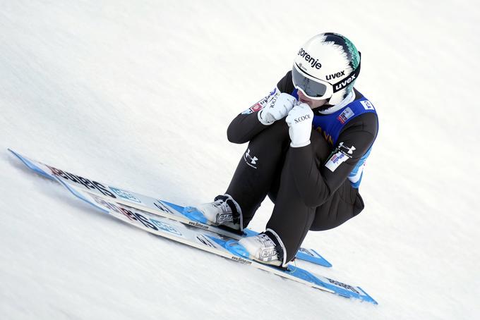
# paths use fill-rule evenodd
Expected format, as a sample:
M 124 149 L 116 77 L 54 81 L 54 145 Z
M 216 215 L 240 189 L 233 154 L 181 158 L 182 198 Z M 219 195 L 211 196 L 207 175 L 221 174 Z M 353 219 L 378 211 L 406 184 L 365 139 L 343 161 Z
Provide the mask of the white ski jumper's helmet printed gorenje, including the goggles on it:
M 360 53 L 349 39 L 337 33 L 320 33 L 309 39 L 294 59 L 292 80 L 311 99 L 339 104 L 352 92 L 360 73 Z

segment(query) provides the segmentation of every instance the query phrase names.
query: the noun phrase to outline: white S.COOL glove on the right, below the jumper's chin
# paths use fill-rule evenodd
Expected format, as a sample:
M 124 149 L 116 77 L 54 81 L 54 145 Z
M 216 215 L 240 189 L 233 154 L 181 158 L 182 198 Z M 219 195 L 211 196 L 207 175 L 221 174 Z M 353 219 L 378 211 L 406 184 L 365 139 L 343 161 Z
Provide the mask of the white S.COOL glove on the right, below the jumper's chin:
M 310 144 L 313 111 L 308 104 L 299 104 L 288 113 L 285 119 L 289 126 L 290 147 L 299 148 Z

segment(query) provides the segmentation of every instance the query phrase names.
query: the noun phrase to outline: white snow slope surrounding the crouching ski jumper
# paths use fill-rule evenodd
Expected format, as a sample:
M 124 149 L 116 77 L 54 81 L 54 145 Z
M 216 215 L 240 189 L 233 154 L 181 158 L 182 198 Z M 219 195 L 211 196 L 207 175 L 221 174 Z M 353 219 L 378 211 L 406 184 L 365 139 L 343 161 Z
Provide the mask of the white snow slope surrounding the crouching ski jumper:
M 0 1 L 0 319 L 480 319 L 476 1 Z M 179 204 L 229 183 L 229 121 L 319 32 L 362 52 L 365 211 L 310 233 L 321 293 L 93 211 L 6 152 Z M 272 204 L 253 221 L 261 230 Z

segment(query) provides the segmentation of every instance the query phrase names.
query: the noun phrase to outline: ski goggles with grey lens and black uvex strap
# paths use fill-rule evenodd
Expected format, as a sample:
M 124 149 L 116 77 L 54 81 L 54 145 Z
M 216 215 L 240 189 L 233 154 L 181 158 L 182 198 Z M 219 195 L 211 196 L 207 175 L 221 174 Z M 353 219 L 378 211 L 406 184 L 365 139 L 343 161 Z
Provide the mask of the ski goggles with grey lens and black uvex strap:
M 352 81 L 356 80 L 356 77 L 360 73 L 360 63 L 355 70 L 348 75 L 344 80 L 340 80 L 337 83 L 331 84 L 324 80 L 313 77 L 294 63 L 292 68 L 292 81 L 297 90 L 300 90 L 309 99 L 323 100 L 329 99 L 335 92 L 347 87 Z

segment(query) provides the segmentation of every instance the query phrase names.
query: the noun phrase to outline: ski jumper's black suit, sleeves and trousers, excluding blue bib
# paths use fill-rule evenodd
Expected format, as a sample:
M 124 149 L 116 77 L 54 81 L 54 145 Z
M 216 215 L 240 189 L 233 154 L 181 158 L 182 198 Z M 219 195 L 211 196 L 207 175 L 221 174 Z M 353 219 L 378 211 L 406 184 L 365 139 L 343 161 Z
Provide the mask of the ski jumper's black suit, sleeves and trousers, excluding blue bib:
M 277 90 L 294 90 L 291 72 L 278 82 Z M 359 99 L 361 94 L 354 92 L 355 99 Z M 316 110 L 313 113 L 321 116 Z M 312 129 L 311 144 L 290 147 L 284 118 L 263 125 L 257 112 L 236 116 L 227 130 L 228 140 L 249 143 L 226 193 L 239 203 L 244 227 L 268 195 L 275 207 L 267 228 L 280 236 L 286 261 L 291 261 L 308 230 L 335 228 L 359 214 L 364 202 L 347 177 L 370 149 L 377 131 L 376 113 L 361 114 L 347 123 L 337 141 L 356 149 L 350 159 L 332 172 L 324 164 L 338 146 L 330 145 L 317 130 Z

